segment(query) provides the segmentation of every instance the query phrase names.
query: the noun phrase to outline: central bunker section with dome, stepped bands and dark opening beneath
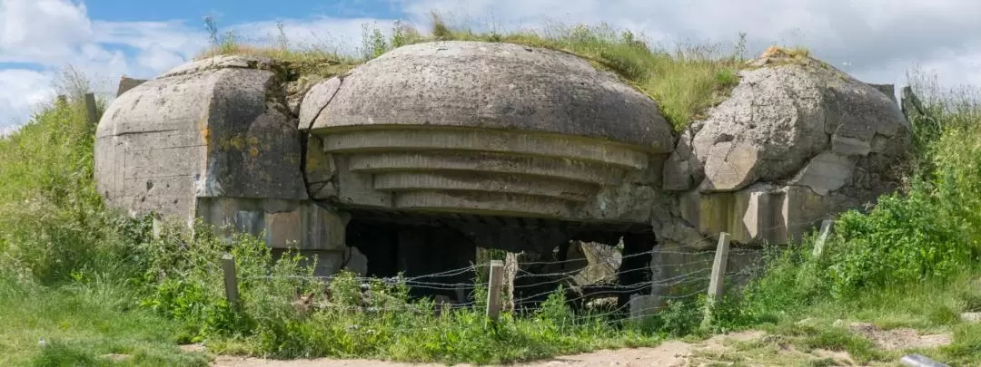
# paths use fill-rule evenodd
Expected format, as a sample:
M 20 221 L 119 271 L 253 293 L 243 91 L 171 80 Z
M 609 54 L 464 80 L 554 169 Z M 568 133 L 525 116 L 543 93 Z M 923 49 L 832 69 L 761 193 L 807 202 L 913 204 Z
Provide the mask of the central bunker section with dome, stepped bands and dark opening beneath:
M 370 275 L 462 268 L 477 249 L 563 257 L 570 241 L 621 238 L 627 252 L 653 247 L 653 179 L 670 127 L 649 97 L 577 57 L 505 43 L 406 46 L 313 85 L 298 110 L 311 199 L 350 213 L 347 245 L 366 254 Z M 611 198 L 617 190 L 646 197 Z M 620 283 L 648 278 L 639 257 L 622 264 L 636 269 Z

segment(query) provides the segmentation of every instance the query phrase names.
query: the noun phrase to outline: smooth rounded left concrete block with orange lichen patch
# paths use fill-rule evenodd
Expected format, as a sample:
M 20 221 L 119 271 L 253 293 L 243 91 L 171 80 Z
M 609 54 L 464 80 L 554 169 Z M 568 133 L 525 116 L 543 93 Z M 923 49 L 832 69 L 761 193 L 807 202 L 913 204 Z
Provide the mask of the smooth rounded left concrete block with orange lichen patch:
M 284 82 L 275 62 L 244 57 L 124 78 L 97 129 L 99 192 L 134 215 L 265 232 L 275 249 L 321 254 L 324 271 L 358 257 L 344 245 L 347 217 L 308 199 Z

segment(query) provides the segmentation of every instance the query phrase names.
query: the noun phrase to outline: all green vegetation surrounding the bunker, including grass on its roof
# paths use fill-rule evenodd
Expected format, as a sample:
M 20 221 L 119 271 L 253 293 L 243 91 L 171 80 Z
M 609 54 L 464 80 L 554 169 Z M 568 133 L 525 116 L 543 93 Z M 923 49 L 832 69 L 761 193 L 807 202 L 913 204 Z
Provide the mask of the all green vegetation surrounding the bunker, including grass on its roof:
M 245 48 L 213 28 L 216 52 L 279 53 L 270 55 L 325 74 L 427 39 L 568 50 L 634 82 L 676 125 L 732 85 L 738 67 L 732 61 L 738 58 L 691 51 L 705 48 L 650 50 L 605 26 L 482 35 L 439 19 L 434 25 L 426 37 L 405 25 L 388 37 L 369 31 L 357 59 L 286 46 Z M 274 357 L 504 362 L 749 328 L 774 338 L 736 345 L 739 353 L 794 345 L 846 350 L 858 361 L 897 356 L 837 326 L 839 319 L 951 332 L 953 344 L 918 351 L 953 365 L 981 363 L 981 325 L 958 319 L 981 310 L 981 99 L 969 89 L 948 92 L 914 77 L 926 109 L 912 121 L 919 149 L 909 190 L 842 215 L 820 257 L 810 255 L 810 240 L 772 249 L 760 276 L 722 299 L 705 330 L 698 327 L 698 300 L 621 325 L 601 315 L 574 316 L 558 294 L 531 315 L 506 313 L 490 324 L 480 304 L 443 310 L 410 301 L 397 282 L 361 292 L 349 274 L 330 284 L 302 277 L 311 267 L 295 254 L 274 256 L 251 236 L 236 235 L 230 244 L 202 226 L 193 235 L 171 228 L 155 238 L 147 218 L 128 218 L 99 199 L 94 126 L 78 103 L 87 86 L 80 75 L 67 76 L 68 102 L 0 138 L 0 365 L 205 365 L 205 355 L 178 347 L 188 343 Z M 216 271 L 223 252 L 232 252 L 238 267 L 237 306 L 225 300 Z M 313 297 L 297 304 L 298 295 Z

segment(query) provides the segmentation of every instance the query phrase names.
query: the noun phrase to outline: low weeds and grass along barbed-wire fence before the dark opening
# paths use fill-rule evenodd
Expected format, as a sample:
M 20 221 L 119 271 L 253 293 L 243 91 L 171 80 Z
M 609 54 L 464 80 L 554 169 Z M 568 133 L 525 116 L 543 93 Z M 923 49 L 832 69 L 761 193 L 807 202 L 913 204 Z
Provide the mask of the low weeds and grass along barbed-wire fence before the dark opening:
M 444 309 L 429 299 L 410 300 L 402 281 L 348 272 L 322 281 L 313 277 L 313 264 L 301 265 L 296 254 L 274 256 L 254 236 L 226 240 L 203 226 L 194 233 L 169 231 L 145 245 L 152 259 L 145 280 L 153 292 L 142 304 L 181 322 L 187 342 L 206 342 L 218 352 L 506 362 L 632 339 L 653 342 L 622 333 L 601 315 L 574 316 L 561 290 L 531 317 L 504 314 L 494 324 L 480 306 Z M 223 252 L 237 266 L 237 310 L 225 299 Z M 300 298 L 307 301 L 298 304 Z

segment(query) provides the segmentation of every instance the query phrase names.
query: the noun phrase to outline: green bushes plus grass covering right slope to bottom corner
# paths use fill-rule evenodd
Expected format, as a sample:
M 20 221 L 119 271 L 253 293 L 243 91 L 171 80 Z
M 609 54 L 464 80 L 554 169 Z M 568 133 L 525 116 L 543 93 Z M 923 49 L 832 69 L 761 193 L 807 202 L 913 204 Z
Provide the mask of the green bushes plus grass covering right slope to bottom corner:
M 953 330 L 954 344 L 925 352 L 981 363 L 981 325 L 959 322 L 981 310 L 981 99 L 913 76 L 925 114 L 911 121 L 920 149 L 909 190 L 842 214 L 822 256 L 811 255 L 812 238 L 772 249 L 763 274 L 733 295 L 737 324 L 817 317 Z

